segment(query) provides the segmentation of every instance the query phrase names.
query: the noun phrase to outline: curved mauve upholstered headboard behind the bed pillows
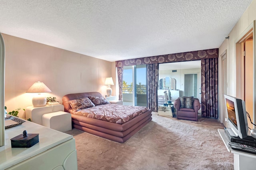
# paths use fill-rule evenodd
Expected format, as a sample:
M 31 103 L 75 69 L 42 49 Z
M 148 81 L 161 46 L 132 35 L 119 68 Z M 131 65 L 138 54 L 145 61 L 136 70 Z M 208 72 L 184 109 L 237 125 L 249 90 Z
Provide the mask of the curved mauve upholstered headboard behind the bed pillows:
M 99 92 L 85 92 L 85 93 L 72 93 L 68 95 L 64 95 L 62 97 L 62 105 L 64 105 L 64 111 L 68 112 L 71 109 L 70 104 L 68 101 L 74 100 L 74 99 L 80 99 L 83 97 L 89 97 L 89 96 L 96 96 L 96 97 L 102 97 L 102 95 Z

